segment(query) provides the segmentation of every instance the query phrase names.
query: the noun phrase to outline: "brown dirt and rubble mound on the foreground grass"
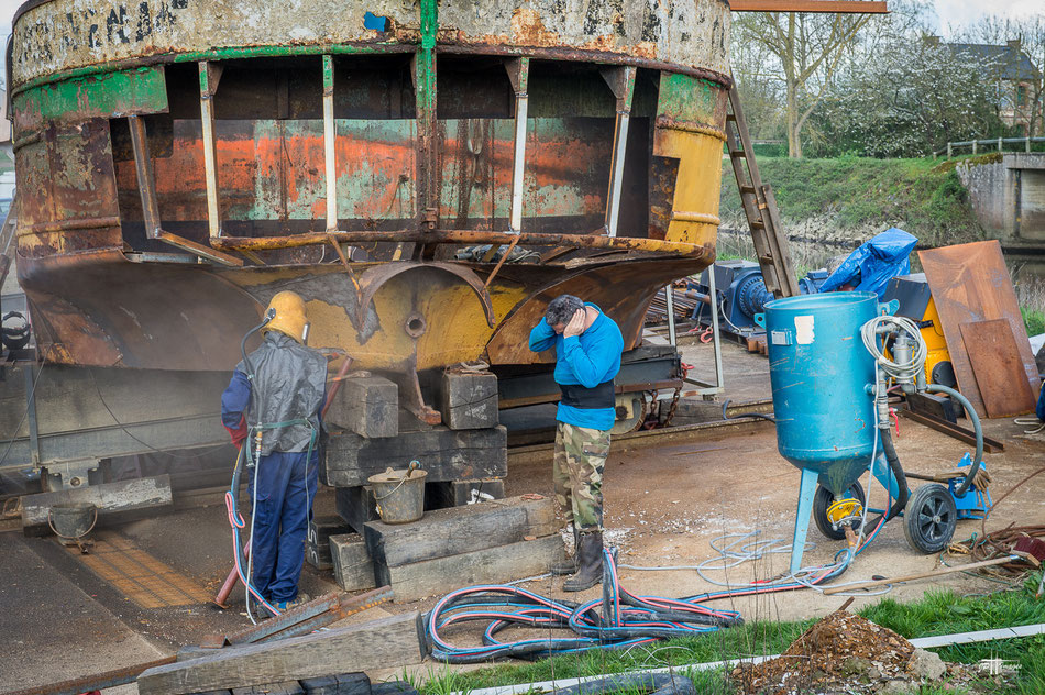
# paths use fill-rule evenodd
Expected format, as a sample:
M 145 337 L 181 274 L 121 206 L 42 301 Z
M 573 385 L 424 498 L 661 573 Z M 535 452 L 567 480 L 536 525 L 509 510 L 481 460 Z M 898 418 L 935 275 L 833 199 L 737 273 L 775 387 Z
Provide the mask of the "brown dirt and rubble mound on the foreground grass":
M 745 693 L 917 692 L 947 666 L 935 654 L 915 649 L 892 630 L 845 610 L 836 610 L 806 630 L 779 658 L 741 665 L 734 680 Z

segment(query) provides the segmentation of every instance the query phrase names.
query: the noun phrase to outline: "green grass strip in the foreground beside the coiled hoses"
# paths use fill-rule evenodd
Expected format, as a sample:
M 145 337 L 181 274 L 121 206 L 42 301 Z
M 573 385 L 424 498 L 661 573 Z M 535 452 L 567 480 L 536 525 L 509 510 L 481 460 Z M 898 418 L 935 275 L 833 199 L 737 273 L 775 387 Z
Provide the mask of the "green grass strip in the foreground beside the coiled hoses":
M 959 596 L 949 591 L 928 592 L 912 604 L 891 598 L 860 610 L 865 618 L 895 630 L 909 639 L 991 628 L 1045 622 L 1045 600 L 1034 598 L 1041 574 L 1030 577 L 1016 591 L 989 596 Z M 421 686 L 425 695 L 449 695 L 496 685 L 531 683 L 551 679 L 619 673 L 646 668 L 679 666 L 735 659 L 737 655 L 774 654 L 785 650 L 813 620 L 801 622 L 751 622 L 740 628 L 713 632 L 698 638 L 684 638 L 636 647 L 622 652 L 587 651 L 544 659 L 522 665 L 502 664 L 471 672 L 447 669 L 429 672 Z M 934 650 L 948 662 L 977 663 L 999 658 L 1020 665 L 1019 682 L 1004 688 L 989 682 L 991 693 L 1031 695 L 1045 693 L 1045 636 L 961 644 Z M 696 680 L 698 693 L 734 695 L 725 673 L 683 671 Z M 923 688 L 923 695 L 943 692 Z

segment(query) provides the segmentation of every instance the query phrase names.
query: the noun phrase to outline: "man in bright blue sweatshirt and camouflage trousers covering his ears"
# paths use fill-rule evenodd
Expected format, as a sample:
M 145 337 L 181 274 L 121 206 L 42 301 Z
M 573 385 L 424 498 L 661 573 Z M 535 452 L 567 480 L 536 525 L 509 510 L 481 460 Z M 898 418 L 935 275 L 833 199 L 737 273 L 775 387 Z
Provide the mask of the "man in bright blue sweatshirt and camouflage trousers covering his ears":
M 582 592 L 603 576 L 603 471 L 616 419 L 613 378 L 620 371 L 624 338 L 602 309 L 573 295 L 551 300 L 530 331 L 530 350 L 556 349 L 556 383 L 562 396 L 556 415 L 552 477 L 556 499 L 573 523 L 573 561 L 551 567 L 573 574 L 563 591 Z

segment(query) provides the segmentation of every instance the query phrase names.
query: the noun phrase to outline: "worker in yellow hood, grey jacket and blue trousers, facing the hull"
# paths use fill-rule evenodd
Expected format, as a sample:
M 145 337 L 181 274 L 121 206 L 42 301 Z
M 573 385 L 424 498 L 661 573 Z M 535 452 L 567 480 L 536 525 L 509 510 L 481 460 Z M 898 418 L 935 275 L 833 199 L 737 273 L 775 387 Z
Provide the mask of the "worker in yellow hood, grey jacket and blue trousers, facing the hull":
M 312 499 L 319 486 L 319 431 L 327 361 L 308 348 L 305 301 L 292 291 L 272 298 L 264 341 L 235 367 L 221 395 L 221 421 L 238 448 L 248 433 L 252 456 L 248 494 L 253 507 L 253 585 L 286 610 L 298 599 L 298 581 Z M 260 435 L 260 441 L 258 441 Z

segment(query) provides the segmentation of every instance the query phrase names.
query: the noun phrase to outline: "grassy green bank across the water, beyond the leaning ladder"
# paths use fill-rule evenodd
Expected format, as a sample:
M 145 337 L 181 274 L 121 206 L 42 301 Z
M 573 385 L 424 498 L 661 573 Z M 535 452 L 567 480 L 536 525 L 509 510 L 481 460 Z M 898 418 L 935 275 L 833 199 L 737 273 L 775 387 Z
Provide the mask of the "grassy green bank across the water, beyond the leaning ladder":
M 936 246 L 982 238 L 968 191 L 954 165 L 934 159 L 760 158 L 762 180 L 771 184 L 785 220 L 829 218 L 844 230 L 893 224 Z M 743 217 L 728 163 L 723 172 L 722 216 Z

